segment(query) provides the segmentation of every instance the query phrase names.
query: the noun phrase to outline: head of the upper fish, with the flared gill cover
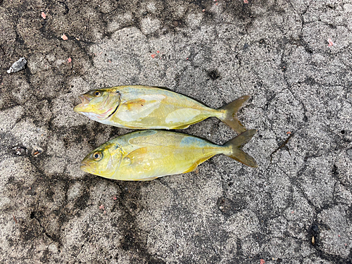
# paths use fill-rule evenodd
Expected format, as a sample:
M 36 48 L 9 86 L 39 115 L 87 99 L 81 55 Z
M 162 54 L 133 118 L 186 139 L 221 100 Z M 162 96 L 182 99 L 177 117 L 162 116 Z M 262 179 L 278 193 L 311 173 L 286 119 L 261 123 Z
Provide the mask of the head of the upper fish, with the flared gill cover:
M 89 91 L 79 98 L 81 103 L 75 106 L 73 111 L 99 122 L 117 111 L 121 94 L 115 89 L 106 88 Z

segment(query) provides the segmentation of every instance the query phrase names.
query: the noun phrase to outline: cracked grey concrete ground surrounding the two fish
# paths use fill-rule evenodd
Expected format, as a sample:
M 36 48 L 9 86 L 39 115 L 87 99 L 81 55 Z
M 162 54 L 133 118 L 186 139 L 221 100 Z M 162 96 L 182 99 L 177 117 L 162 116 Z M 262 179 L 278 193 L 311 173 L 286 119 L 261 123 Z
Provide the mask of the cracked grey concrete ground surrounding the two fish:
M 351 30 L 349 0 L 0 1 L 0 263 L 351 263 Z M 129 130 L 74 113 L 77 95 L 122 84 L 216 108 L 251 94 L 260 167 L 84 174 Z M 215 118 L 185 132 L 235 136 Z

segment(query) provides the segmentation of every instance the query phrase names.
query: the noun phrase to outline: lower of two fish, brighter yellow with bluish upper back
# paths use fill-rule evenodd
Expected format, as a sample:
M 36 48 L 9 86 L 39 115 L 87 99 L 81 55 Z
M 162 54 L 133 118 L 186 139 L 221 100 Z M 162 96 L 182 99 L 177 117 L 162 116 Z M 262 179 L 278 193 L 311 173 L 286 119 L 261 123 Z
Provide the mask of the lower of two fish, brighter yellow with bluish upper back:
M 250 167 L 258 167 L 240 147 L 256 130 L 246 130 L 224 145 L 168 130 L 137 130 L 102 144 L 82 161 L 80 169 L 113 180 L 147 181 L 196 170 L 216 154 L 225 154 Z

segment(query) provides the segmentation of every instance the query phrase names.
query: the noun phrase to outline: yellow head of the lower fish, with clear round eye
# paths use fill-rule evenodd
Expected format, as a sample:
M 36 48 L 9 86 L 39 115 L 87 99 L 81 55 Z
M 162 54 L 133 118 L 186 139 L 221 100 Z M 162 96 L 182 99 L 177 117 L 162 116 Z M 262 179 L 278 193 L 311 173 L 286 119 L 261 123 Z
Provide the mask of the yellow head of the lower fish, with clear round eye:
M 113 177 L 122 161 L 122 149 L 117 144 L 106 142 L 90 152 L 81 162 L 80 169 L 101 177 Z

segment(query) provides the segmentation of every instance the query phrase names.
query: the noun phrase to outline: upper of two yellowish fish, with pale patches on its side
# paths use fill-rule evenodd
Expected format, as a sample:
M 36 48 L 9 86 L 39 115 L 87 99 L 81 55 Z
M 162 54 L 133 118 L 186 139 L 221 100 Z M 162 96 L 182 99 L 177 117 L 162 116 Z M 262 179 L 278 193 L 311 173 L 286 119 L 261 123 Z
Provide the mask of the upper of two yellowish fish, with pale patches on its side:
M 241 134 L 246 127 L 237 118 L 237 112 L 250 96 L 241 96 L 218 109 L 167 89 L 142 85 L 94 89 L 79 98 L 81 103 L 74 111 L 106 125 L 135 130 L 182 130 L 215 117 Z

